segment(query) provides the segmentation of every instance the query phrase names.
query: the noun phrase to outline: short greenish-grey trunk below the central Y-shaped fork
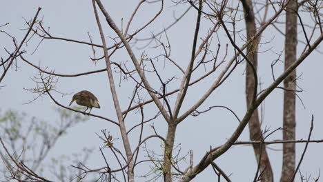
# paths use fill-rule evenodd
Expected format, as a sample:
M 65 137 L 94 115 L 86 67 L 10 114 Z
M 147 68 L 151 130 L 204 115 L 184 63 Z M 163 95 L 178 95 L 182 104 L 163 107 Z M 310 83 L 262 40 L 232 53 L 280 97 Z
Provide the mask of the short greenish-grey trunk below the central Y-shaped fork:
M 164 181 L 171 182 L 172 179 L 172 155 L 175 140 L 176 125 L 169 124 L 164 151 Z

